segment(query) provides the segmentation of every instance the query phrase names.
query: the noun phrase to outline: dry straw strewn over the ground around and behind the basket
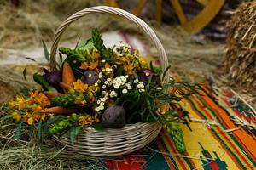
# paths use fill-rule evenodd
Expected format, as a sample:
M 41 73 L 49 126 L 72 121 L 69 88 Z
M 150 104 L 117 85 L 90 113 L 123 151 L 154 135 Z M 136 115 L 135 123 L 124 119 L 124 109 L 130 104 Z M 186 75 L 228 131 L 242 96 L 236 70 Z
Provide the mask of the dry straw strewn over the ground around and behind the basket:
M 0 59 L 3 57 L 3 51 L 7 53 L 6 49 L 14 49 L 19 53 L 19 50 L 26 47 L 41 46 L 42 39 L 51 42 L 55 29 L 68 15 L 101 2 L 99 0 L 23 0 L 20 8 L 15 9 L 9 3 L 3 4 L 0 0 Z M 153 44 L 148 42 L 143 32 L 137 30 L 137 26 L 108 14 L 93 14 L 75 22 L 63 35 L 62 41 L 75 43 L 78 37 L 88 37 L 92 27 L 98 27 L 102 31 L 122 30 L 137 34 L 148 45 L 148 52 L 157 56 Z M 192 81 L 204 80 L 224 61 L 223 44 L 205 42 L 198 37 L 189 37 L 183 31 L 171 26 L 162 26 L 154 30 L 166 48 L 172 68 L 183 78 Z M 31 67 L 32 71 L 33 68 Z M 28 83 L 22 80 L 23 68 L 15 66 L 11 69 L 2 67 L 0 70 L 2 72 L 0 91 L 3 93 L 2 96 L 5 95 L 4 99 L 17 93 L 20 88 L 28 86 Z M 16 74 L 13 70 L 20 73 Z M 223 82 L 219 80 L 221 78 L 219 74 L 215 74 L 215 78 L 217 82 Z M 31 80 L 29 74 L 28 79 Z M 6 114 L 6 108 L 0 108 L 0 117 Z M 90 157 L 61 150 L 60 145 L 50 139 L 44 144 L 39 144 L 38 139 L 26 135 L 20 141 L 20 145 L 17 145 L 14 128 L 14 123 L 0 121 L 1 169 L 17 169 L 17 167 L 20 169 L 103 169 L 101 159 L 91 161 Z M 27 129 L 23 132 L 31 133 Z

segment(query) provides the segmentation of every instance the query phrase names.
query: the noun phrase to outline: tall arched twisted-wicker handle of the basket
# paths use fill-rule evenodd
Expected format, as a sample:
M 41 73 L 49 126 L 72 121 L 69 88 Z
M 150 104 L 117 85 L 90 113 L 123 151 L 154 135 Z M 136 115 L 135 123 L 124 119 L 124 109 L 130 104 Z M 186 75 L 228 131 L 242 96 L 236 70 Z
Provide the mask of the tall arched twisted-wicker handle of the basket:
M 130 20 L 131 22 L 135 23 L 137 26 L 139 26 L 143 31 L 150 37 L 150 39 L 154 42 L 154 46 L 157 48 L 159 57 L 160 57 L 160 63 L 163 71 L 166 70 L 166 68 L 169 66 L 168 59 L 166 56 L 166 51 L 163 48 L 160 40 L 155 35 L 154 31 L 141 19 L 139 19 L 137 16 L 126 12 L 123 9 L 120 8 L 113 8 L 108 6 L 96 6 L 92 8 L 84 8 L 83 10 L 80 10 L 79 12 L 71 15 L 67 18 L 67 20 L 64 20 L 62 22 L 61 26 L 57 29 L 54 36 L 54 42 L 51 46 L 51 52 L 50 52 L 50 59 L 49 59 L 49 66 L 51 70 L 55 70 L 55 54 L 58 48 L 58 44 L 61 39 L 62 33 L 66 30 L 67 26 L 69 26 L 73 21 L 78 20 L 79 18 L 83 17 L 85 14 L 91 14 L 91 13 L 108 13 L 108 14 L 117 14 L 119 16 L 122 16 L 126 18 L 127 20 Z M 166 77 L 164 78 L 164 81 L 166 82 L 169 78 L 169 71 L 167 71 Z

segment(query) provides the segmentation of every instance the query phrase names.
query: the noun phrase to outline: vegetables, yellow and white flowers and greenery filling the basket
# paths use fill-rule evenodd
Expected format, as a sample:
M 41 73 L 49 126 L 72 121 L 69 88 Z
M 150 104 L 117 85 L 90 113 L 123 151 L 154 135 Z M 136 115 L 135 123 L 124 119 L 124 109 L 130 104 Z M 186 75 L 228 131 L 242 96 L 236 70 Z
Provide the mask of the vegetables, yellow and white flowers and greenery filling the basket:
M 137 50 L 122 42 L 106 48 L 96 29 L 74 49 L 59 51 L 67 55 L 59 69 L 44 68 L 33 76 L 41 89 L 9 101 L 19 127 L 25 122 L 44 128 L 44 135 L 70 132 L 73 142 L 83 127 L 103 130 L 157 121 L 172 135 L 177 150 L 185 150 L 178 125 L 183 119 L 174 108 L 195 84 L 174 79 L 163 83 L 169 68 L 162 71 L 148 65 Z

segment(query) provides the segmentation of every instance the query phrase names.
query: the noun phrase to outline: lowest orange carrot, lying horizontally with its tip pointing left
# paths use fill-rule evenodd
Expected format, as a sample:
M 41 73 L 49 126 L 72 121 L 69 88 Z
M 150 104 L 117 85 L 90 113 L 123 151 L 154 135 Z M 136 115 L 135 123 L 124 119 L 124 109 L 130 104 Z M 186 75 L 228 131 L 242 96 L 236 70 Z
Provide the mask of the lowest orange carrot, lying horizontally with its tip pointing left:
M 39 113 L 48 113 L 48 114 L 71 114 L 78 112 L 78 109 L 66 108 L 62 106 L 49 107 L 44 110 L 38 111 Z

